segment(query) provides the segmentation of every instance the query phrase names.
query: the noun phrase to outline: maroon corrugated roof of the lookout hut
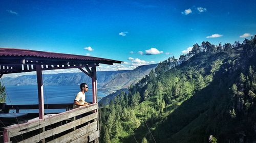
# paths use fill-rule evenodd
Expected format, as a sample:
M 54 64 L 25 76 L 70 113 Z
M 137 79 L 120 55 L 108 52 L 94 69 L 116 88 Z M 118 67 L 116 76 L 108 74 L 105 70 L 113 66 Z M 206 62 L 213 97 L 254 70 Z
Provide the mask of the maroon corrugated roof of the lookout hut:
M 114 63 L 120 64 L 122 61 L 66 53 L 0 48 L 0 74 L 36 71 L 34 65 L 41 65 L 42 70 L 53 70 L 88 68 Z

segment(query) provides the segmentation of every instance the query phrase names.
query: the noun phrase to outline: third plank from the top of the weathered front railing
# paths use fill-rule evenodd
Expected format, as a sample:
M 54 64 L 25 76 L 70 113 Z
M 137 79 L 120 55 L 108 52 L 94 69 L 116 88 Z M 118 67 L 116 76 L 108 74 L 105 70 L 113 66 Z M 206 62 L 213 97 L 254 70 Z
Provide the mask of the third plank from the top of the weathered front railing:
M 79 140 L 79 138 L 84 138 L 83 141 L 80 141 L 80 142 L 86 142 L 86 138 L 88 138 L 88 136 L 95 131 L 97 131 L 97 126 L 95 125 L 95 123 L 92 123 L 84 127 L 81 127 L 75 131 L 62 135 L 58 138 L 55 138 L 54 140 L 51 140 L 48 143 L 64 143 L 64 142 L 75 143 L 75 141 Z

